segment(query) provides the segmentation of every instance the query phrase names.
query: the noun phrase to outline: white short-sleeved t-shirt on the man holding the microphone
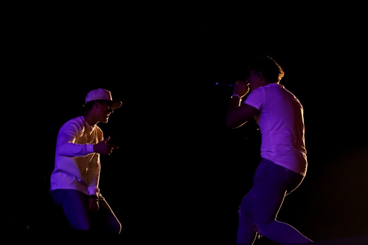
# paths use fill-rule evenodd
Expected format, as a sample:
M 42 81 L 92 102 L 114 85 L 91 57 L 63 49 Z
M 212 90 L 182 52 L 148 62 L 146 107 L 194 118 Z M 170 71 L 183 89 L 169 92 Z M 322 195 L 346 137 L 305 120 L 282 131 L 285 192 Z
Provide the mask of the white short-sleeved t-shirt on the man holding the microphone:
M 244 101 L 258 109 L 254 116 L 261 134 L 261 157 L 305 176 L 303 107 L 284 86 L 271 83 L 253 90 Z

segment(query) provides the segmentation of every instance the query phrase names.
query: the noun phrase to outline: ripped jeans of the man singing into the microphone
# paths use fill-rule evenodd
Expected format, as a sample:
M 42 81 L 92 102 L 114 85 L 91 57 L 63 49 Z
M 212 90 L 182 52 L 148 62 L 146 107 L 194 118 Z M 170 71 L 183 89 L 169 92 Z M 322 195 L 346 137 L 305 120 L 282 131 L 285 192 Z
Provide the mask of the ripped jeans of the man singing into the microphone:
M 303 179 L 304 176 L 262 158 L 253 187 L 240 204 L 237 244 L 253 244 L 257 233 L 285 245 L 312 242 L 294 227 L 276 221 L 284 197 Z

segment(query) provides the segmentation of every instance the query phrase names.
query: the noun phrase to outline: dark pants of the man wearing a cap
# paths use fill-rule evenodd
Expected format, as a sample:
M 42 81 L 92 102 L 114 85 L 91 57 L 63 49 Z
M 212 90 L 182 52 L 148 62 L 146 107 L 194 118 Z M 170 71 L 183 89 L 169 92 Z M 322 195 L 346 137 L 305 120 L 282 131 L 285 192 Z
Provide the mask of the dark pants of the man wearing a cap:
M 99 231 L 100 233 L 119 234 L 121 224 L 101 194 L 99 209 L 96 213 L 89 212 L 89 196 L 71 189 L 51 191 L 54 201 L 60 205 L 72 228 L 81 231 Z

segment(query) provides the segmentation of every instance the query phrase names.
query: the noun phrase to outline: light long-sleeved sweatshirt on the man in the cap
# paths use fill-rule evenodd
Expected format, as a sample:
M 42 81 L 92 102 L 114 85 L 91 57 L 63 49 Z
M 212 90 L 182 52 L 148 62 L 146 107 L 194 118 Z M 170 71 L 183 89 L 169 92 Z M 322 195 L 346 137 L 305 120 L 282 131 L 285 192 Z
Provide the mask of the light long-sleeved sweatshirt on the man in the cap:
M 102 130 L 97 125 L 89 126 L 83 116 L 61 126 L 50 190 L 74 189 L 86 195 L 98 195 L 100 154 L 93 152 L 93 144 L 102 140 Z

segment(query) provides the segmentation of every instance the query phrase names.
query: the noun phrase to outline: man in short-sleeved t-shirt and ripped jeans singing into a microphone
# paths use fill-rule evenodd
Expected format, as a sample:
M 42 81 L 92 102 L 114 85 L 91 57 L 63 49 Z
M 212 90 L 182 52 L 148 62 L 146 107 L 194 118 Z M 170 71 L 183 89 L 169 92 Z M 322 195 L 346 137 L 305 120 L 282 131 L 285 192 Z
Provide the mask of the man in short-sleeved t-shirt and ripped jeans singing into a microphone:
M 261 162 L 238 211 L 237 244 L 253 244 L 257 233 L 285 245 L 312 242 L 289 224 L 276 221 L 284 197 L 301 184 L 307 172 L 303 108 L 279 84 L 283 75 L 271 57 L 256 58 L 247 81 L 237 81 L 231 96 L 227 126 L 240 127 L 254 117 L 262 134 Z M 302 213 L 298 210 L 296 215 Z

